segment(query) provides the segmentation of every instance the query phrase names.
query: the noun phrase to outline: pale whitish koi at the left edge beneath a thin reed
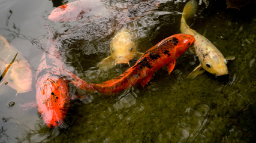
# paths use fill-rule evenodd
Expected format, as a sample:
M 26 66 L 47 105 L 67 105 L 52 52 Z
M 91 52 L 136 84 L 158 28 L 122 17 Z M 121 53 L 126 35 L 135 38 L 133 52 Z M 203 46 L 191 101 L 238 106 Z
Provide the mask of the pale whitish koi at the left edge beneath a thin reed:
M 31 91 L 32 71 L 28 61 L 0 35 L 0 70 L 4 81 L 17 94 Z M 14 57 L 14 58 L 13 58 Z

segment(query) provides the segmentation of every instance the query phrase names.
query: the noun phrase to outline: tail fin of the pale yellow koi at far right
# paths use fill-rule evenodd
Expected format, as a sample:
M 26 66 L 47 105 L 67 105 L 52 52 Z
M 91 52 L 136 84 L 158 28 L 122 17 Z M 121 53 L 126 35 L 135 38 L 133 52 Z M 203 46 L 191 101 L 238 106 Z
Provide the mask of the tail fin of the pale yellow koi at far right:
M 193 17 L 193 15 L 197 12 L 197 0 L 190 0 L 189 2 L 186 3 L 183 12 L 182 12 L 182 17 L 187 18 Z

